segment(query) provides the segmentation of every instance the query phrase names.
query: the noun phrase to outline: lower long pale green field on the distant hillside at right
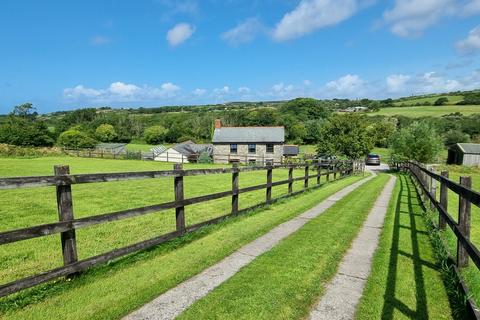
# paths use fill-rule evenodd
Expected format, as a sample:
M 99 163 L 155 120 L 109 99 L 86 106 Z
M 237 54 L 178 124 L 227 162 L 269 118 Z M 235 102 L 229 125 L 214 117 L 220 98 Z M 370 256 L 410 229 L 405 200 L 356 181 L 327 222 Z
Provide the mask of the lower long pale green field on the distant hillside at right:
M 396 116 L 402 115 L 411 118 L 420 117 L 441 117 L 445 114 L 460 112 L 463 115 L 480 113 L 480 106 L 420 106 L 420 107 L 393 107 L 382 108 L 377 112 L 371 112 L 367 115 L 371 116 Z

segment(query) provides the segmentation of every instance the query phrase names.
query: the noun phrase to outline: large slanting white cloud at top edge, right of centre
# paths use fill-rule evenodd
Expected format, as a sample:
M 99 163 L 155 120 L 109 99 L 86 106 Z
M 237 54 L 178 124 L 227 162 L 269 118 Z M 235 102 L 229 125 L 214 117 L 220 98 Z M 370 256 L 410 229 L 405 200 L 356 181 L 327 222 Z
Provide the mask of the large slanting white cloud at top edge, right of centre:
M 302 0 L 285 14 L 273 31 L 273 38 L 285 41 L 350 18 L 359 6 L 356 0 Z

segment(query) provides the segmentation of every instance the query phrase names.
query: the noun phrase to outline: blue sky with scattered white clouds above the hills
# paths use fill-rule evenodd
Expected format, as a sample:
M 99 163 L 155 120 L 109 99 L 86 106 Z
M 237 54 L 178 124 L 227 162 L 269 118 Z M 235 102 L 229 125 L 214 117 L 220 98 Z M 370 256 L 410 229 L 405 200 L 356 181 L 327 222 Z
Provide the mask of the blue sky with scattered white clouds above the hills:
M 2 0 L 0 113 L 480 88 L 480 0 Z

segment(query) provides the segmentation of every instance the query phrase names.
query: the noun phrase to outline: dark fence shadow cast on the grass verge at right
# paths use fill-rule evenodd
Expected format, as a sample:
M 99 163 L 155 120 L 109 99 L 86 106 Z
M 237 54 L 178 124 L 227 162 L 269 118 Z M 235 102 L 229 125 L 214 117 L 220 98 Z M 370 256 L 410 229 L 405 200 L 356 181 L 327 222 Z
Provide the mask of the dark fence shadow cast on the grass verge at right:
M 427 296 L 422 269 L 424 267 L 438 268 L 435 264 L 424 261 L 420 257 L 419 235 L 425 236 L 426 233 L 425 231 L 417 230 L 416 217 L 421 216 L 422 207 L 417 201 L 414 201 L 414 199 L 417 199 L 416 191 L 407 181 L 407 176 L 399 175 L 399 178 L 400 194 L 395 207 L 394 230 L 390 248 L 382 319 L 393 319 L 395 311 L 399 311 L 411 319 L 428 319 Z M 408 218 L 404 218 L 405 215 L 407 215 Z M 406 233 L 402 232 L 405 230 Z M 405 240 L 406 236 L 409 236 L 409 240 Z M 401 279 L 397 279 L 400 259 L 403 261 L 408 259 L 408 263 L 413 267 L 415 287 L 410 288 L 410 290 L 415 291 L 415 307 L 409 306 L 408 301 L 402 301 L 404 299 L 396 294 L 397 280 L 401 281 Z

